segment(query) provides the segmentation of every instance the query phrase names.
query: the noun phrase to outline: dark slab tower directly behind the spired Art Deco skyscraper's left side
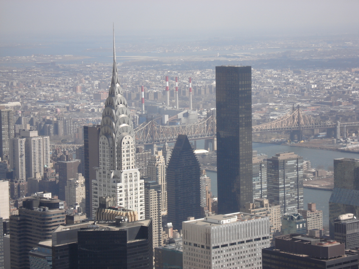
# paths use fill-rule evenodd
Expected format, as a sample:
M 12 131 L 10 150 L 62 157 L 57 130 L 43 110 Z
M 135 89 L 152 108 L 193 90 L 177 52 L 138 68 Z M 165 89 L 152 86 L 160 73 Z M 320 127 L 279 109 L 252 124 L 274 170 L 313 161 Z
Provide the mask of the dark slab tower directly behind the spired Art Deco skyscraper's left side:
M 86 216 L 92 219 L 92 180 L 96 179 L 96 170 L 99 166 L 98 141 L 101 127 L 84 126 L 84 178 L 86 193 Z

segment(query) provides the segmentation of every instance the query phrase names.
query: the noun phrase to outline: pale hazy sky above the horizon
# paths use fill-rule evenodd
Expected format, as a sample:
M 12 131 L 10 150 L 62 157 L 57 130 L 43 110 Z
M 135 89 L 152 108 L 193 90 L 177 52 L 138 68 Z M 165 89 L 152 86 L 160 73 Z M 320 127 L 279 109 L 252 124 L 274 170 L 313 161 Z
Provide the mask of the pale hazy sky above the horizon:
M 358 0 L 0 0 L 0 38 L 359 33 Z

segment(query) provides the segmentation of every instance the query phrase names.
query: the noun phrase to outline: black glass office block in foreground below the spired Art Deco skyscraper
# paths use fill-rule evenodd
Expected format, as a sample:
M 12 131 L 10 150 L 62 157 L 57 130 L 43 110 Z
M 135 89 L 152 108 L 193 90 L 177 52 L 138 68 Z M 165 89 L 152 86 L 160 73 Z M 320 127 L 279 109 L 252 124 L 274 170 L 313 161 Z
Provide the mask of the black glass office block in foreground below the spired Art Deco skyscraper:
M 152 221 L 121 220 L 78 231 L 78 269 L 153 269 Z

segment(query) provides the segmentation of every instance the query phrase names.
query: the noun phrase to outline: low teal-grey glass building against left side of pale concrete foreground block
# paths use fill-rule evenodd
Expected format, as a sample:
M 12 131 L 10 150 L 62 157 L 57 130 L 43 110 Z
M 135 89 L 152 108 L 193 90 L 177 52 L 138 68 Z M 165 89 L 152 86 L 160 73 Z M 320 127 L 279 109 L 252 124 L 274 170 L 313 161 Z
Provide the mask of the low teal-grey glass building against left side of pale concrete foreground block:
M 181 244 L 168 244 L 155 247 L 156 269 L 182 269 L 183 246 Z

